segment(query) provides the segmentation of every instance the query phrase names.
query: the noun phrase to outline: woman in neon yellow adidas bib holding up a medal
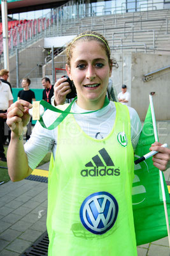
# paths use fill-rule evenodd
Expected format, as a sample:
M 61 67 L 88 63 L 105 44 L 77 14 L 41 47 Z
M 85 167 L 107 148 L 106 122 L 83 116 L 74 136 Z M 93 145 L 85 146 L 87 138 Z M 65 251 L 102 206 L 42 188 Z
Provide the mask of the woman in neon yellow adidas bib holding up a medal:
M 19 100 L 8 111 L 11 180 L 30 175 L 52 149 L 47 216 L 50 256 L 137 255 L 131 190 L 141 123 L 134 109 L 106 98 L 113 66 L 117 63 L 110 58 L 106 39 L 92 31 L 83 33 L 67 47 L 66 70 L 77 92 L 71 112 L 92 113 L 67 115 L 52 131 L 37 122 L 31 139 L 23 145 L 21 134 L 31 105 Z M 56 114 L 46 111 L 43 119 L 49 126 Z M 159 151 L 153 164 L 165 170 L 170 150 L 160 143 L 150 149 Z

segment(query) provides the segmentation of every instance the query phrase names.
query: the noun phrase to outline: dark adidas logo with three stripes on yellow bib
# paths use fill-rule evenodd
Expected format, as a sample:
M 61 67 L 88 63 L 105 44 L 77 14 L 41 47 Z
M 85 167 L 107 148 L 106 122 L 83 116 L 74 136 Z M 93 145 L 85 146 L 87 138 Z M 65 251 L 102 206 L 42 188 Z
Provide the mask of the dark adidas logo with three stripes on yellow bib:
M 119 176 L 120 170 L 115 168 L 115 164 L 113 163 L 110 155 L 106 151 L 105 148 L 99 150 L 100 156 L 97 154 L 92 157 L 92 161 L 85 164 L 88 169 L 81 170 L 82 177 L 97 177 L 97 176 Z M 108 168 L 108 166 L 110 166 Z M 114 168 L 111 168 L 114 166 Z

